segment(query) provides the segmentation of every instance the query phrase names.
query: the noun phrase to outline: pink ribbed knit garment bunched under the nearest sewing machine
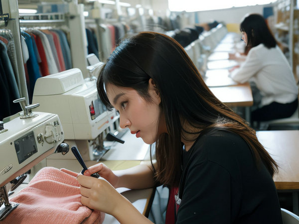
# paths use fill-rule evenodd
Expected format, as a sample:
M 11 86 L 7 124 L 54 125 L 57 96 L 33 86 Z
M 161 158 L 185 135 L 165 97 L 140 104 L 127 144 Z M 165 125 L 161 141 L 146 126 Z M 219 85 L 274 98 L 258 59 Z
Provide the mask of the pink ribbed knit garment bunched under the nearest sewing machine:
M 28 186 L 10 198 L 18 207 L 5 224 L 101 224 L 105 214 L 81 204 L 77 173 L 42 168 Z M 2 224 L 2 222 L 1 222 Z

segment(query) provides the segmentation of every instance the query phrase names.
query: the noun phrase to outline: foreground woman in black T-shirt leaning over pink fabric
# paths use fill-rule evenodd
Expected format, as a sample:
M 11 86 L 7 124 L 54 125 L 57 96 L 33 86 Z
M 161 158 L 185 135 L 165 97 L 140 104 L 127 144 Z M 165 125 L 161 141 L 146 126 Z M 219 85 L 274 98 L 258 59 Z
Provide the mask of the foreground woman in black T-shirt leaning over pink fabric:
M 79 175 L 81 201 L 120 223 L 149 223 L 115 188 L 171 188 L 166 222 L 281 224 L 272 176 L 277 164 L 246 122 L 205 85 L 172 38 L 142 32 L 102 68 L 101 100 L 120 126 L 155 145 L 156 163 L 112 172 L 97 164 Z M 98 172 L 105 180 L 88 177 Z M 109 182 L 109 183 L 108 183 Z

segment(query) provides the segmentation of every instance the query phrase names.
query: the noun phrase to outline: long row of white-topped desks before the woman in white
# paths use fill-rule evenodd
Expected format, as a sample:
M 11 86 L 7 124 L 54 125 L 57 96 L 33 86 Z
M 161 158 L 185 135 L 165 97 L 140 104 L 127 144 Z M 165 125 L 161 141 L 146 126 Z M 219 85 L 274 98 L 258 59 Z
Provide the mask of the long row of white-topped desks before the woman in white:
M 249 83 L 239 84 L 229 77 L 229 69 L 241 65 L 242 62 L 229 60 L 229 53 L 240 51 L 244 43 L 236 38 L 237 34 L 226 36 L 215 47 L 207 58 L 207 71 L 203 79 L 212 93 L 230 108 L 245 107 L 245 119 L 250 120 L 250 107 L 253 96 Z

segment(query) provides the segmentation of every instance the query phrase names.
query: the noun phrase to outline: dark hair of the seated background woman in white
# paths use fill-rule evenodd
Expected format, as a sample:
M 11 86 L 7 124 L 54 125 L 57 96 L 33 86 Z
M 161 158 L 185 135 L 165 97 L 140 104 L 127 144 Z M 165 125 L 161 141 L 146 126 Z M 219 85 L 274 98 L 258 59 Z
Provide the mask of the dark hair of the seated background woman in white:
M 240 30 L 247 34 L 249 47 L 264 44 L 267 48 L 276 47 L 276 40 L 264 17 L 260 14 L 246 16 L 240 24 Z

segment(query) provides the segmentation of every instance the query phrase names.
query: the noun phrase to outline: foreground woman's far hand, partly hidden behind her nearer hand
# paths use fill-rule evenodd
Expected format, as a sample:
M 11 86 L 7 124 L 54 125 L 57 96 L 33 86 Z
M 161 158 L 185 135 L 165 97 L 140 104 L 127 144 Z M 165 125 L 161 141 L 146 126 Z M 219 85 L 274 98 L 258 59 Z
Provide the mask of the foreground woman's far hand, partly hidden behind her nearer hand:
M 119 177 L 116 176 L 105 164 L 98 163 L 89 167 L 88 170 L 85 170 L 84 175 L 90 176 L 93 173 L 100 174 L 100 176 L 107 180 L 113 187 L 117 188 Z

